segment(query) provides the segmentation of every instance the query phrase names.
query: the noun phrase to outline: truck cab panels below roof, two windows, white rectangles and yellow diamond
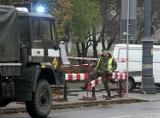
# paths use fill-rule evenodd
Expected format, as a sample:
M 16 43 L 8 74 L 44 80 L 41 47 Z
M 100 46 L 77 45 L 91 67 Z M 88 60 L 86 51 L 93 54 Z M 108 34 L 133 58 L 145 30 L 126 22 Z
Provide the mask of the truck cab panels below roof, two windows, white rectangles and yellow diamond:
M 51 18 L 32 18 L 32 61 L 50 62 L 59 68 L 60 52 L 55 38 L 54 21 Z

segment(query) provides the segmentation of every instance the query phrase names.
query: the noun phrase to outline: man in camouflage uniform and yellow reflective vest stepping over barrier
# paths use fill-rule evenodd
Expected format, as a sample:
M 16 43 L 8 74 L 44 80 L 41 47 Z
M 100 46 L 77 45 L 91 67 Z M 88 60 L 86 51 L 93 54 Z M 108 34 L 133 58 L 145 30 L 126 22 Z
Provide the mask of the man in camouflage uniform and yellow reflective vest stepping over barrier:
M 117 68 L 117 63 L 107 49 L 103 49 L 102 51 L 102 55 L 99 57 L 96 63 L 92 65 L 94 69 L 89 73 L 89 77 L 82 89 L 86 90 L 90 81 L 101 76 L 103 78 L 104 88 L 108 94 L 106 99 L 111 99 L 107 75 L 112 74 L 112 72 Z

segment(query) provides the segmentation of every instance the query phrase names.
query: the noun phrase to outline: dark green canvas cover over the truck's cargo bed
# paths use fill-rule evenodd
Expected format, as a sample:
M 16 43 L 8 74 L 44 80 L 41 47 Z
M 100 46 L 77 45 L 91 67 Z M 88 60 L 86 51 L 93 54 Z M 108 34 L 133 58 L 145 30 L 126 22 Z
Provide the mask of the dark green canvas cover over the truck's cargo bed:
M 19 60 L 18 11 L 0 5 L 0 62 Z

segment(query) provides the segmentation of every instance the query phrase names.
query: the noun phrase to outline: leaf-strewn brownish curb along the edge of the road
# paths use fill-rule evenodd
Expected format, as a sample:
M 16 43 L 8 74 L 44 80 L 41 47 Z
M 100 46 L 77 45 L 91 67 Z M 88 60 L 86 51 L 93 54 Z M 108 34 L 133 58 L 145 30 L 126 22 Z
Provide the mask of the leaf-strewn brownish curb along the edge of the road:
M 64 103 L 64 104 L 54 104 L 52 110 L 59 109 L 69 109 L 69 108 L 84 108 L 92 106 L 105 106 L 112 104 L 130 104 L 130 103 L 139 103 L 139 102 L 148 102 L 147 100 L 141 99 L 119 99 L 119 100 L 108 100 L 108 101 L 87 101 L 87 102 L 76 102 L 76 103 Z M 27 112 L 25 107 L 21 108 L 0 108 L 0 114 L 13 114 L 19 112 Z

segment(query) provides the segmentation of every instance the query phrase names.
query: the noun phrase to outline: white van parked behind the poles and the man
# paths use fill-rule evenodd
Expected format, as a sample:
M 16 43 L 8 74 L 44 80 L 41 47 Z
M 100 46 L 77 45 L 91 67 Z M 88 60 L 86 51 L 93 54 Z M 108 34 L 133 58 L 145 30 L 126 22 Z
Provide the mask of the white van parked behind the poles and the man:
M 116 44 L 113 56 L 117 59 L 116 71 L 126 71 L 126 44 Z M 128 89 L 132 91 L 142 80 L 142 45 L 129 44 L 128 50 Z M 122 62 L 123 60 L 123 62 Z M 153 76 L 155 85 L 160 85 L 160 46 L 153 46 Z

